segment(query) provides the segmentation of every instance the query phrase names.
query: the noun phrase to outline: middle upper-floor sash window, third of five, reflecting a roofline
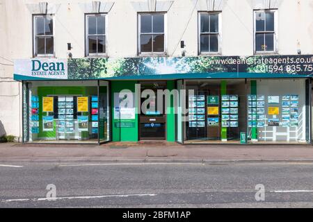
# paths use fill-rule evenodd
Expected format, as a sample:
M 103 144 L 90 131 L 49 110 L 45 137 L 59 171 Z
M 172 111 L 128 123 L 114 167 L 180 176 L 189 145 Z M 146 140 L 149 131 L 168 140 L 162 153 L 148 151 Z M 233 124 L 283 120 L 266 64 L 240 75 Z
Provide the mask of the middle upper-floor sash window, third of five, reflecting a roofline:
M 139 53 L 165 53 L 164 13 L 139 14 Z

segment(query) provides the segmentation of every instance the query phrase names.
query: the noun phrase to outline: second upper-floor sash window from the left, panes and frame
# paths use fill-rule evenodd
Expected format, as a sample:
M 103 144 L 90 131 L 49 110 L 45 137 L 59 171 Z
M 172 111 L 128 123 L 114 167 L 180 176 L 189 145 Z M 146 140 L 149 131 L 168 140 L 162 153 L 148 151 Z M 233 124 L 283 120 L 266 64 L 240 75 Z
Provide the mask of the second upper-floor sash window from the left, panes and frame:
M 106 15 L 86 15 L 86 56 L 106 53 Z

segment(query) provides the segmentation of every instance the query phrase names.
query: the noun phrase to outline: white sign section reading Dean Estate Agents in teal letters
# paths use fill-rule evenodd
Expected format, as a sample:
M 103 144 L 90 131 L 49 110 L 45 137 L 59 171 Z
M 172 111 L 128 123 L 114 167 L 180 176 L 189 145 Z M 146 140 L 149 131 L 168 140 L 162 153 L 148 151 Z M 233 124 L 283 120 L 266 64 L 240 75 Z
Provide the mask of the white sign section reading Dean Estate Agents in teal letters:
M 15 79 L 67 79 L 67 59 L 15 60 Z

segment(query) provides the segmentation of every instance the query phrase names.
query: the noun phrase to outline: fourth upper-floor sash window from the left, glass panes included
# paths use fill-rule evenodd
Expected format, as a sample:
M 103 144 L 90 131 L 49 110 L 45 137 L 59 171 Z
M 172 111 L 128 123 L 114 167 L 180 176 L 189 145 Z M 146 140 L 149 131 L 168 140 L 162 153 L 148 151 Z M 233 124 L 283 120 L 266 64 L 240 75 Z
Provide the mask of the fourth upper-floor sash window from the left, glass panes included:
M 220 13 L 200 12 L 199 42 L 200 54 L 218 53 L 220 42 Z

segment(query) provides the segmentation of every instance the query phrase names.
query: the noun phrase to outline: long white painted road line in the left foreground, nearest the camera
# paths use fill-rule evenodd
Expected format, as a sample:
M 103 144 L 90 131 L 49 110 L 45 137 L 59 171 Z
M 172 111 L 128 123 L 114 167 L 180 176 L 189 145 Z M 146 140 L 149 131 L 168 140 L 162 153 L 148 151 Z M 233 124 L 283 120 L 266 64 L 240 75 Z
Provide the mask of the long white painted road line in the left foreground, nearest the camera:
M 130 196 L 157 196 L 157 194 L 113 194 L 113 195 L 101 195 L 101 196 L 62 196 L 62 197 L 56 197 L 56 198 L 24 198 L 24 199 L 0 200 L 0 203 L 8 203 L 8 202 L 15 202 L 15 201 L 95 199 L 95 198 L 107 198 L 107 197 L 124 198 L 124 197 L 130 197 Z

